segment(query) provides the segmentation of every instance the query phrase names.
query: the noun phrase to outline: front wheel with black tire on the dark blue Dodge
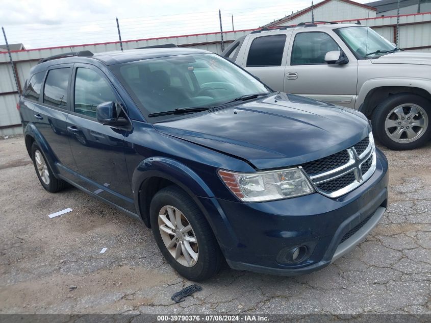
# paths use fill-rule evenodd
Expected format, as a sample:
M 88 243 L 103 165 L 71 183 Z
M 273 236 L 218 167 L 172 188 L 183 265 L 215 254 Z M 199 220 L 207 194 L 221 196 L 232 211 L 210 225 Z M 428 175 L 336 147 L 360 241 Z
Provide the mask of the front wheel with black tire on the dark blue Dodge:
M 167 207 L 172 209 L 168 211 Z M 169 214 L 169 212 L 171 213 Z M 173 220 L 169 221 L 172 218 L 172 212 Z M 175 235 L 173 232 L 168 234 L 160 229 L 161 226 L 165 229 L 171 227 L 166 225 L 166 220 L 162 220 L 159 214 L 166 214 L 166 219 L 175 227 L 172 228 L 177 232 Z M 180 223 L 177 223 L 176 216 L 181 218 Z M 223 256 L 217 240 L 204 215 L 192 198 L 182 189 L 176 186 L 168 186 L 156 193 L 153 200 L 151 200 L 150 222 L 151 230 L 153 230 L 160 251 L 181 276 L 191 281 L 203 281 L 213 277 L 220 270 Z M 184 232 L 184 235 L 183 233 L 178 233 L 178 231 L 181 232 L 181 226 L 185 229 L 188 225 L 191 226 L 191 230 Z M 196 243 L 188 241 L 193 240 L 193 238 Z M 178 239 L 176 240 L 178 242 L 174 242 L 174 239 Z M 169 241 L 172 246 L 168 250 Z M 189 256 L 188 259 L 191 260 L 190 263 L 186 259 L 183 247 Z M 190 250 L 190 248 L 192 252 L 189 253 L 187 250 Z M 181 252 L 177 260 L 175 255 L 178 250 L 181 250 Z M 193 258 L 193 254 L 197 259 Z

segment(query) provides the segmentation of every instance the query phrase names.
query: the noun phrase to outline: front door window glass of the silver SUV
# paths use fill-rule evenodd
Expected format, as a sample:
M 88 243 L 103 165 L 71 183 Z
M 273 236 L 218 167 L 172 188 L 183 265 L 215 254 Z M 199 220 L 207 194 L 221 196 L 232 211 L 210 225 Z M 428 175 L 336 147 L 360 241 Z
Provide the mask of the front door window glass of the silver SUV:
M 326 64 L 325 55 L 331 51 L 341 49 L 328 34 L 319 32 L 296 34 L 290 65 Z

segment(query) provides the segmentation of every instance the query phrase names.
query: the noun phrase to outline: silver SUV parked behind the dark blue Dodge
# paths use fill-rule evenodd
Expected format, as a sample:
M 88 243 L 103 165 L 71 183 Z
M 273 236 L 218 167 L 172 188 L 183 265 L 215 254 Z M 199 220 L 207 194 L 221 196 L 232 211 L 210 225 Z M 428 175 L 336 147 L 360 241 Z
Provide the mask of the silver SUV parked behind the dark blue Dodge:
M 360 110 L 389 148 L 413 149 L 431 138 L 431 53 L 402 51 L 361 24 L 262 29 L 222 56 L 274 90 Z

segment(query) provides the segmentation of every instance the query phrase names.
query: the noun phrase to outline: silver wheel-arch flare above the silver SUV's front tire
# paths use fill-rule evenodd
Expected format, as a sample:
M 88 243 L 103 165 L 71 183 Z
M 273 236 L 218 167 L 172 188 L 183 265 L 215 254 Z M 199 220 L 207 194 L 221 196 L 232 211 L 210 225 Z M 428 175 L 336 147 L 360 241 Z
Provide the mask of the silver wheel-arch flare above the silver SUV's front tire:
M 431 80 L 425 78 L 375 78 L 370 79 L 361 86 L 355 103 L 355 109 L 364 103 L 367 94 L 378 87 L 412 87 L 420 88 L 431 94 Z

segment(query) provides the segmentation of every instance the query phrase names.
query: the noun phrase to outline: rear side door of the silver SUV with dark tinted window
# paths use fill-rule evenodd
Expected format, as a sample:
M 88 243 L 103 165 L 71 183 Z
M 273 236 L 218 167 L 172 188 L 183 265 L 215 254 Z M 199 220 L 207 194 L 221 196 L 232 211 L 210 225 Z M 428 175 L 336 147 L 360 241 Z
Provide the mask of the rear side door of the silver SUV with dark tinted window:
M 248 39 L 242 66 L 273 90 L 284 90 L 291 33 L 255 34 Z

